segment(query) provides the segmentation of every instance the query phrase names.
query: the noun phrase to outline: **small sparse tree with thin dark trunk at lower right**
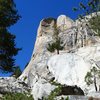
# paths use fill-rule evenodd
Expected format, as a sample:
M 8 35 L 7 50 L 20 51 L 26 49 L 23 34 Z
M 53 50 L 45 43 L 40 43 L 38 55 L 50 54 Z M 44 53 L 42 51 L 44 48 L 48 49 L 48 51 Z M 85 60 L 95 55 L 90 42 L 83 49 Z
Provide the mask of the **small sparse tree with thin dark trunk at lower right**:
M 94 83 L 95 90 L 97 91 L 97 79 L 100 78 L 100 70 L 96 67 L 93 67 L 89 72 L 87 72 L 85 76 L 85 82 L 87 85 L 91 85 Z

